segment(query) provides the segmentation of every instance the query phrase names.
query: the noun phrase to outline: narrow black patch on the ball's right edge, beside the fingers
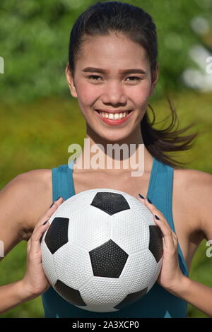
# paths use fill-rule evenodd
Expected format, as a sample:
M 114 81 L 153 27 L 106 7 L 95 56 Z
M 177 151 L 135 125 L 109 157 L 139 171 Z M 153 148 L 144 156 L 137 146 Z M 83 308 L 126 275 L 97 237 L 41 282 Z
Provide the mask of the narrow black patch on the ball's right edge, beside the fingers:
M 149 245 L 148 249 L 151 251 L 155 257 L 156 262 L 160 261 L 163 256 L 163 234 L 160 227 L 150 225 L 149 226 Z

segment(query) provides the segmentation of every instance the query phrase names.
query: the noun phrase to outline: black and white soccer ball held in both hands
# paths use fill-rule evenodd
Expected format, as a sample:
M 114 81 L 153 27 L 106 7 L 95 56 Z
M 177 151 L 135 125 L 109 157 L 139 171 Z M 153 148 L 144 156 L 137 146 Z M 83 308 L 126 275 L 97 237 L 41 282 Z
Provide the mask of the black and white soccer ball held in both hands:
M 115 312 L 151 290 L 163 238 L 139 199 L 113 189 L 71 196 L 49 219 L 42 266 L 61 297 L 91 312 Z

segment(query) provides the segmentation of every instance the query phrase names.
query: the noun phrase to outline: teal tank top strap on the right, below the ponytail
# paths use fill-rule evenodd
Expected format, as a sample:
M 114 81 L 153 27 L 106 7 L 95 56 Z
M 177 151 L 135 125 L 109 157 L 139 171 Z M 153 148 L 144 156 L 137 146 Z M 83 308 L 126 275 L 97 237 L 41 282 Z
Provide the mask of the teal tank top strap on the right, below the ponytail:
M 165 219 L 169 223 L 173 232 L 175 232 L 175 224 L 172 215 L 172 190 L 173 190 L 173 167 L 160 162 L 153 158 L 153 167 L 151 171 L 151 179 L 148 187 L 148 198 L 163 213 Z M 184 275 L 189 275 L 189 269 L 182 250 L 178 243 L 179 266 Z

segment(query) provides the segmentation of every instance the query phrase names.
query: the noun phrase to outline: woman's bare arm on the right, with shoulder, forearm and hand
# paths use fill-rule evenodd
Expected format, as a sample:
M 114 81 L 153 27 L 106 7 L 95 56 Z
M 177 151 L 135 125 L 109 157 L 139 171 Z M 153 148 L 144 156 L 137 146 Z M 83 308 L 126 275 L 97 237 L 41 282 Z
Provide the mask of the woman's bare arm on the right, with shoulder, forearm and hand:
M 187 189 L 188 199 L 195 201 L 191 213 L 194 220 L 199 220 L 199 230 L 204 232 L 206 239 L 212 239 L 211 200 L 212 200 L 212 175 L 201 171 L 192 172 L 192 182 Z M 148 209 L 157 215 L 159 220 L 155 223 L 163 232 L 163 264 L 158 277 L 158 283 L 172 295 L 189 302 L 204 314 L 212 317 L 212 288 L 188 278 L 179 268 L 178 239 L 169 223 L 152 203 L 145 198 L 139 198 Z

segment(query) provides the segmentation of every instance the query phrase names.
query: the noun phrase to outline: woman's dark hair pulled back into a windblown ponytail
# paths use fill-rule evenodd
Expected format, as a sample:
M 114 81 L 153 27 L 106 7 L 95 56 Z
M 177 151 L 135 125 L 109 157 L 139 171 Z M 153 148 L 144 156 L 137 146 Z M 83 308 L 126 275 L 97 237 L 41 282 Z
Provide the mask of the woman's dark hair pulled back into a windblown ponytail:
M 118 1 L 97 2 L 89 6 L 77 18 L 70 35 L 69 70 L 72 73 L 74 72 L 76 60 L 80 54 L 81 45 L 86 40 L 86 35 L 108 35 L 110 32 L 122 32 L 130 40 L 139 43 L 146 49 L 146 56 L 151 64 L 151 76 L 153 77 L 158 63 L 158 41 L 155 23 L 142 8 Z M 175 129 L 175 131 L 172 131 L 176 120 L 178 121 L 177 113 L 170 102 L 170 98 L 166 97 L 170 104 L 172 123 L 166 129 L 154 129 L 155 114 L 151 105 L 148 104 L 153 112 L 153 121 L 150 121 L 146 111 L 141 121 L 143 143 L 155 159 L 171 167 L 182 168 L 181 165 L 185 162 L 174 160 L 165 152 L 189 150 L 194 145 L 192 141 L 199 133 L 179 136 L 179 134 L 192 127 L 193 124 L 181 130 Z

